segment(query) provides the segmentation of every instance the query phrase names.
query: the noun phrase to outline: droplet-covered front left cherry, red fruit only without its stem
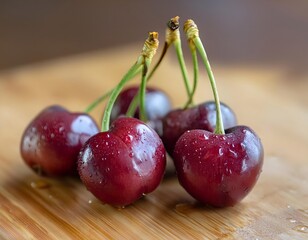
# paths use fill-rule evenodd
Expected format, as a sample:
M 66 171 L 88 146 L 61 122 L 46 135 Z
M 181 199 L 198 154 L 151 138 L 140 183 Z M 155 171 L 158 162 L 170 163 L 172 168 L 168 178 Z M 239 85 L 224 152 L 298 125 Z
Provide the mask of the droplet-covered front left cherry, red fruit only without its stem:
M 120 117 L 91 137 L 78 160 L 80 178 L 102 202 L 129 205 L 160 184 L 166 151 L 157 133 L 136 118 Z

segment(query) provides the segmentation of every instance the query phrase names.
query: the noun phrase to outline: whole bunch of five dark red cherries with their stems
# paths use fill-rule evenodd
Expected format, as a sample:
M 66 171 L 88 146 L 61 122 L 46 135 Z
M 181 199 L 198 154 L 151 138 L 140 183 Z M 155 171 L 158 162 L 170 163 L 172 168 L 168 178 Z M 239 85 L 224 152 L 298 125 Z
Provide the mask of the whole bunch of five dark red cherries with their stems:
M 132 204 L 161 183 L 167 154 L 183 188 L 195 199 L 216 207 L 233 206 L 254 187 L 262 169 L 263 147 L 256 133 L 237 125 L 232 109 L 220 103 L 199 30 L 184 24 L 194 66 L 188 80 L 179 17 L 167 24 L 162 54 L 149 72 L 158 48 L 158 33 L 150 32 L 140 56 L 118 85 L 81 113 L 60 106 L 40 112 L 21 139 L 21 156 L 36 173 L 79 175 L 86 188 L 113 206 Z M 187 101 L 172 109 L 168 95 L 147 87 L 169 47 L 175 47 Z M 207 70 L 214 101 L 195 104 L 200 55 Z M 137 75 L 139 86 L 124 88 Z M 124 90 L 123 90 L 124 89 Z M 89 112 L 108 98 L 101 129 Z

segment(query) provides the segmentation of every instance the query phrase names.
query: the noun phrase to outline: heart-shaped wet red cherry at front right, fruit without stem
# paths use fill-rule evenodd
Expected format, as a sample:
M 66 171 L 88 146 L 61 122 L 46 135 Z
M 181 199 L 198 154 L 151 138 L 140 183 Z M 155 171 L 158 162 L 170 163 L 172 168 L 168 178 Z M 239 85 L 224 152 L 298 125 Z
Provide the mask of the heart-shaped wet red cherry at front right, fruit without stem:
M 185 132 L 176 143 L 174 164 L 180 184 L 198 201 L 233 206 L 254 187 L 263 165 L 263 147 L 248 127 L 225 134 Z

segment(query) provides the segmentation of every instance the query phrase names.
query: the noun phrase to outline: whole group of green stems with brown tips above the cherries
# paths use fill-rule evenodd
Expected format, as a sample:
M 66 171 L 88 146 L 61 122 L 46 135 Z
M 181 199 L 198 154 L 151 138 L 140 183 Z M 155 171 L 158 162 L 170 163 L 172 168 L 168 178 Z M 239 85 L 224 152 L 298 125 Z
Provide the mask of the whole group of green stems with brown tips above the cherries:
M 214 74 L 211 69 L 210 62 L 208 60 L 206 51 L 204 49 L 203 43 L 199 37 L 199 30 L 197 25 L 194 23 L 193 20 L 188 19 L 184 23 L 184 32 L 186 34 L 186 38 L 189 44 L 190 52 L 192 55 L 193 60 L 193 85 L 190 85 L 189 79 L 188 79 L 188 72 L 183 56 L 182 51 L 182 44 L 181 44 L 181 38 L 180 38 L 180 31 L 179 31 L 179 17 L 176 16 L 174 18 L 171 18 L 167 23 L 166 28 L 166 36 L 165 36 L 165 43 L 164 48 L 162 50 L 161 56 L 158 59 L 157 63 L 153 67 L 152 71 L 148 73 L 148 69 L 150 67 L 150 64 L 152 62 L 153 56 L 156 53 L 156 50 L 158 48 L 158 33 L 157 32 L 150 32 L 147 40 L 144 43 L 144 46 L 142 48 L 141 54 L 138 57 L 136 63 L 128 70 L 128 72 L 124 75 L 124 77 L 121 79 L 119 84 L 113 89 L 96 99 L 91 105 L 89 105 L 86 109 L 86 112 L 90 112 L 94 107 L 96 107 L 100 102 L 105 100 L 107 97 L 109 97 L 107 106 L 104 111 L 104 116 L 102 120 L 102 131 L 107 131 L 109 129 L 110 125 L 110 115 L 113 108 L 113 105 L 116 101 L 117 96 L 120 94 L 121 90 L 123 89 L 124 85 L 133 77 L 141 73 L 141 84 L 138 91 L 138 94 L 134 97 L 134 99 L 131 101 L 129 109 L 127 111 L 127 116 L 133 116 L 136 108 L 140 107 L 140 118 L 143 121 L 147 121 L 146 111 L 145 111 L 145 94 L 146 94 L 146 84 L 147 81 L 153 76 L 157 68 L 160 66 L 164 56 L 166 55 L 169 47 L 171 45 L 174 46 L 177 59 L 180 65 L 180 69 L 182 72 L 184 85 L 187 93 L 187 101 L 184 105 L 184 108 L 188 108 L 191 105 L 193 105 L 193 97 L 195 94 L 195 91 L 197 89 L 197 83 L 198 83 L 198 75 L 199 75 L 199 67 L 198 67 L 198 54 L 200 55 L 202 62 L 206 68 L 210 85 L 213 91 L 215 105 L 216 105 L 216 128 L 215 133 L 216 134 L 224 134 L 224 126 L 222 122 L 222 114 L 220 109 L 220 100 L 218 96 L 216 81 L 214 78 Z

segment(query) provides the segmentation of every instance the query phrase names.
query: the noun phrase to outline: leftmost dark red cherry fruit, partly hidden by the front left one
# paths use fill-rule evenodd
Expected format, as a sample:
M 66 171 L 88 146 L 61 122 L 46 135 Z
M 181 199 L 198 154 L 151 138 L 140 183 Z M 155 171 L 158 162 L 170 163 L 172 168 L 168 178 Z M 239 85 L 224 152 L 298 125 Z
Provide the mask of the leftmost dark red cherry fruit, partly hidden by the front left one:
M 39 174 L 76 175 L 82 145 L 98 132 L 98 126 L 88 114 L 50 106 L 25 129 L 20 144 L 21 156 Z

